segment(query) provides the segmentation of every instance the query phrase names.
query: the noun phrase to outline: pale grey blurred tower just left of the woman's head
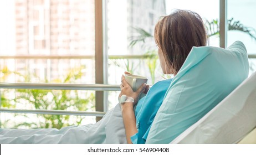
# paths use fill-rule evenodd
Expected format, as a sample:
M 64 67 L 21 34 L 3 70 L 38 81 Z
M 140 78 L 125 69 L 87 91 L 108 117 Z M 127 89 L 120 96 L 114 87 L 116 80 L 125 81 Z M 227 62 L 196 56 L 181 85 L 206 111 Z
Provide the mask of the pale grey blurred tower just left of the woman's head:
M 166 14 L 165 0 L 130 0 L 127 1 L 127 32 L 132 38 L 134 28 L 142 28 L 153 35 L 155 24 L 161 16 Z M 146 43 L 147 44 L 147 43 Z M 153 39 L 148 46 L 155 45 Z M 144 54 L 141 45 L 129 49 L 130 54 Z

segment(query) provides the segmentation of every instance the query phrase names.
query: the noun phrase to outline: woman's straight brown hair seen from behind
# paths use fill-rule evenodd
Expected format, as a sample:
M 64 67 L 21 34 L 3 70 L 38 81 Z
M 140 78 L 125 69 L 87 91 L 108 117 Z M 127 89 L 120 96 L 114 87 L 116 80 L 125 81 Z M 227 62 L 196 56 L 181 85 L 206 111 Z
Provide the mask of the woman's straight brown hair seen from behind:
M 191 48 L 205 46 L 208 37 L 203 20 L 197 13 L 176 10 L 156 24 L 155 42 L 162 51 L 171 73 L 176 75 Z

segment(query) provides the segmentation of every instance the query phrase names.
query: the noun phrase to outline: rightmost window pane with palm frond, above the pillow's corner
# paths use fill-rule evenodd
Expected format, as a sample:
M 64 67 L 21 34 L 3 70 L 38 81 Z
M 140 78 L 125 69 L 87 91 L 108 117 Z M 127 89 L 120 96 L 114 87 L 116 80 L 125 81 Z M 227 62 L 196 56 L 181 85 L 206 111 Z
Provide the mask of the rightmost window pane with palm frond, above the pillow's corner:
M 254 0 L 232 0 L 227 4 L 227 16 L 230 28 L 227 33 L 227 45 L 240 40 L 247 48 L 248 54 L 256 54 L 256 1 Z M 256 59 L 249 59 L 250 72 L 256 71 Z

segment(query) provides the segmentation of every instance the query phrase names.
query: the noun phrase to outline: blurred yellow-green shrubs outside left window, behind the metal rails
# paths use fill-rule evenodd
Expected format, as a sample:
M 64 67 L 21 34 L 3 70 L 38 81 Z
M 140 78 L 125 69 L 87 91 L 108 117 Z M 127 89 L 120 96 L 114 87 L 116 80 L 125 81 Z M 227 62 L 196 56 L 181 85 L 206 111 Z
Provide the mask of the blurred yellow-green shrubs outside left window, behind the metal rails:
M 84 67 L 71 69 L 68 74 L 61 79 L 55 79 L 54 82 L 70 83 L 81 79 Z M 4 73 L 10 73 L 8 69 L 5 69 Z M 3 72 L 3 70 L 2 70 Z M 14 74 L 14 73 L 12 73 Z M 8 76 L 9 76 L 8 75 Z M 30 82 L 35 75 L 27 74 L 21 75 L 25 82 Z M 7 77 L 7 74 L 6 74 Z M 47 80 L 43 82 L 48 82 Z M 8 92 L 13 91 L 15 96 L 9 96 Z M 86 97 L 86 98 L 85 98 Z M 88 108 L 93 108 L 95 96 L 93 92 L 81 92 L 77 90 L 32 90 L 32 89 L 16 89 L 15 93 L 13 89 L 4 89 L 1 91 L 2 107 L 17 108 L 17 105 L 22 105 L 24 108 L 43 109 L 43 110 L 74 110 L 74 111 L 86 111 Z M 29 117 L 27 114 L 18 113 L 14 115 L 15 118 L 25 119 Z M 83 116 L 77 116 L 75 121 L 70 122 L 70 116 L 66 115 L 36 115 L 35 118 L 38 122 L 18 122 L 12 126 L 12 128 L 29 127 L 29 128 L 62 128 L 70 125 L 80 125 L 83 120 Z M 8 125 L 6 120 L 1 122 L 1 127 Z M 7 126 L 10 127 L 10 126 Z

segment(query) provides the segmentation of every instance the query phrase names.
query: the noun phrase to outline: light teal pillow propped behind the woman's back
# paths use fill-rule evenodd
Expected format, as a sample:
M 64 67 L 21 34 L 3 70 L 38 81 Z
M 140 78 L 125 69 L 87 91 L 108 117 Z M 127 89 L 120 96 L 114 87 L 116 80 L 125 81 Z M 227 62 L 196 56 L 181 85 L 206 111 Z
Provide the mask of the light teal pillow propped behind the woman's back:
M 152 123 L 146 143 L 170 143 L 248 77 L 242 42 L 229 48 L 193 47 Z

